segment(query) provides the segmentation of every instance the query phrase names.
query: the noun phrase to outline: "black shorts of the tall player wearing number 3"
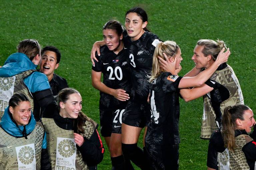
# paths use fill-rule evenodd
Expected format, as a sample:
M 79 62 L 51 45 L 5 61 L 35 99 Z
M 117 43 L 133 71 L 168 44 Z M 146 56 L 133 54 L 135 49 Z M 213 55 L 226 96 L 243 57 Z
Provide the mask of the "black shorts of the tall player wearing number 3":
M 144 128 L 151 119 L 150 105 L 136 100 L 130 100 L 123 114 L 123 123 L 129 126 Z

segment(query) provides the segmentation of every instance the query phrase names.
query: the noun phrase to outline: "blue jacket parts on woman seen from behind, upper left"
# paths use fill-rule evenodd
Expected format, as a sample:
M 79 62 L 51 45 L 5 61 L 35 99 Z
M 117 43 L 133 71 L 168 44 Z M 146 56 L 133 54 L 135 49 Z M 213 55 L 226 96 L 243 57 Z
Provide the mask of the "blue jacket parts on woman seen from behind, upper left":
M 0 68 L 0 77 L 12 77 L 27 70 L 36 69 L 35 65 L 26 54 L 13 53 Z M 31 93 L 50 89 L 47 76 L 41 72 L 35 71 L 24 79 L 25 85 Z

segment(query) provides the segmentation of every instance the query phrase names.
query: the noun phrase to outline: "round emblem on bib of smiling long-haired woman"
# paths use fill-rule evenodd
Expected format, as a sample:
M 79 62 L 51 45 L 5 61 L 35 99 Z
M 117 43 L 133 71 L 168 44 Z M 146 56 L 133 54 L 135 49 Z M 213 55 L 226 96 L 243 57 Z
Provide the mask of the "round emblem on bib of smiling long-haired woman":
M 58 144 L 58 151 L 61 156 L 68 158 L 75 153 L 76 147 L 72 140 L 64 139 Z

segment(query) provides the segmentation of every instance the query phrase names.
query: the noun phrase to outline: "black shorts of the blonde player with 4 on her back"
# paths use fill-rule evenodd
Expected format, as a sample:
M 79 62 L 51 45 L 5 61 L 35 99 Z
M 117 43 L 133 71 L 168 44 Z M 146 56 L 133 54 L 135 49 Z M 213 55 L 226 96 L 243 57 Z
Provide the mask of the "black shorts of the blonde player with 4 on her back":
M 145 143 L 145 145 L 151 170 L 179 169 L 179 144 L 155 145 Z

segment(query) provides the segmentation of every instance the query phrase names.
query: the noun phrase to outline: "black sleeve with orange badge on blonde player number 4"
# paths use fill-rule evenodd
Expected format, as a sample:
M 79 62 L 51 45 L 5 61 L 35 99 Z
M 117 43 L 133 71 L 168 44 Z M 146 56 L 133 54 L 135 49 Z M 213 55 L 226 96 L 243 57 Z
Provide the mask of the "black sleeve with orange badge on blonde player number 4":
M 165 73 L 162 77 L 162 89 L 164 92 L 175 92 L 179 90 L 179 83 L 182 77 Z

